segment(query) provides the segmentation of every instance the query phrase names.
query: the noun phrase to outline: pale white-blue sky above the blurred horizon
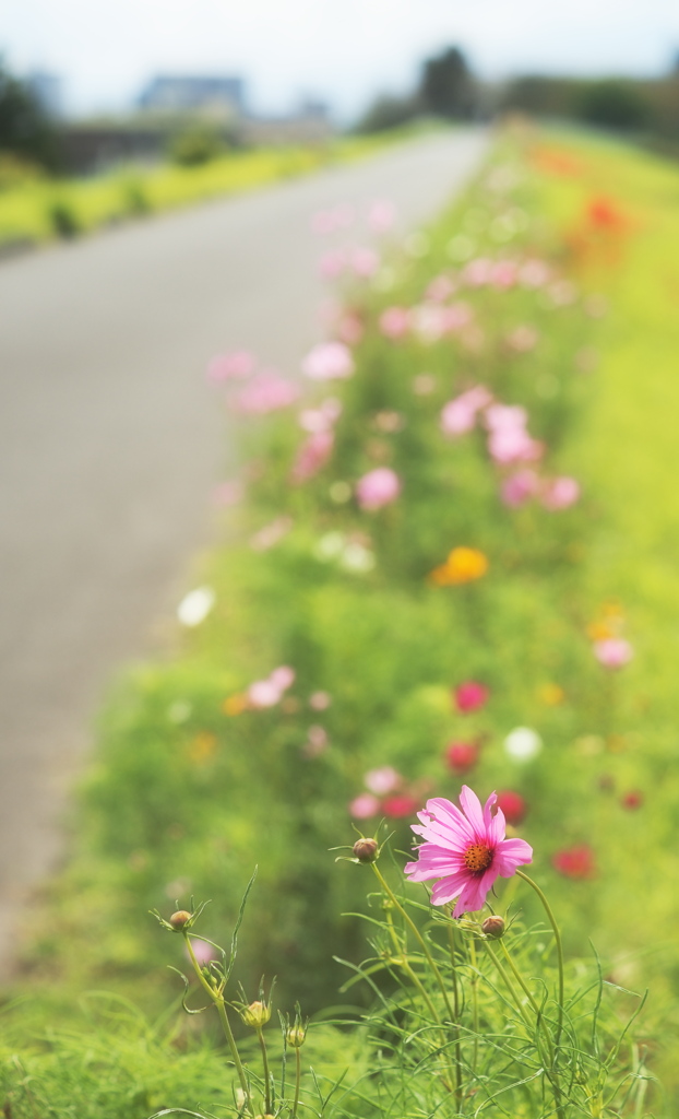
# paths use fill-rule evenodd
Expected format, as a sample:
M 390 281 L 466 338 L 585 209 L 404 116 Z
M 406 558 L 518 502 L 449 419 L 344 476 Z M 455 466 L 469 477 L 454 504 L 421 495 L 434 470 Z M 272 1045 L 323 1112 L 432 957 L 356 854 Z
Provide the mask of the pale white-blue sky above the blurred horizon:
M 64 78 L 76 112 L 129 105 L 155 73 L 238 74 L 252 107 L 303 94 L 345 119 L 460 45 L 477 73 L 666 70 L 678 0 L 1 0 L 0 51 Z

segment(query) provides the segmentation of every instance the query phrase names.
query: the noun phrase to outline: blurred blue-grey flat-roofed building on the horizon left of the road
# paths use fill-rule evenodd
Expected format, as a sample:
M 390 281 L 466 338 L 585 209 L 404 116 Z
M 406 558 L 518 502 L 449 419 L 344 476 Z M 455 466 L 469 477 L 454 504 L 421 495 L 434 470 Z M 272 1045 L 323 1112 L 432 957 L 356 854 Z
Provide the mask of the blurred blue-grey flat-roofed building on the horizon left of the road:
M 245 83 L 239 77 L 160 75 L 142 91 L 138 107 L 154 114 L 199 114 L 234 120 L 245 111 Z

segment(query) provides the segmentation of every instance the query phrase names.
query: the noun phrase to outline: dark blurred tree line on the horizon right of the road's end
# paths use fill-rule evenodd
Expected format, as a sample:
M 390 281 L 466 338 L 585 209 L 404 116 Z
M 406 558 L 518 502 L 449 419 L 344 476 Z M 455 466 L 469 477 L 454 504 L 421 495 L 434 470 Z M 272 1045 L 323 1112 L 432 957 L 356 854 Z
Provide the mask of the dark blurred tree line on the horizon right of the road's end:
M 527 75 L 490 84 L 474 76 L 459 47 L 449 47 L 423 64 L 412 93 L 379 96 L 357 130 L 379 132 L 424 116 L 469 121 L 509 112 L 641 133 L 679 150 L 679 57 L 670 74 L 654 81 Z

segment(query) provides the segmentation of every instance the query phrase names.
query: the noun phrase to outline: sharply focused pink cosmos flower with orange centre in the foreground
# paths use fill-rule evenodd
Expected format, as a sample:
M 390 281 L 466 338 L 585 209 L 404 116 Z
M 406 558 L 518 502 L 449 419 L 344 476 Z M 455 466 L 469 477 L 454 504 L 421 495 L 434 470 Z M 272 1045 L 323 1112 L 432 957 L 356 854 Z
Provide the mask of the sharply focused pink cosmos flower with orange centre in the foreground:
M 524 839 L 504 838 L 502 811 L 491 815 L 497 799 L 492 792 L 481 809 L 475 792 L 463 784 L 462 811 L 450 800 L 434 797 L 417 814 L 422 825 L 413 825 L 413 831 L 425 843 L 418 848 L 417 862 L 407 863 L 405 873 L 412 882 L 438 878 L 432 902 L 446 905 L 456 897 L 453 916 L 482 909 L 498 875 L 510 878 L 519 866 L 532 859 L 532 847 Z

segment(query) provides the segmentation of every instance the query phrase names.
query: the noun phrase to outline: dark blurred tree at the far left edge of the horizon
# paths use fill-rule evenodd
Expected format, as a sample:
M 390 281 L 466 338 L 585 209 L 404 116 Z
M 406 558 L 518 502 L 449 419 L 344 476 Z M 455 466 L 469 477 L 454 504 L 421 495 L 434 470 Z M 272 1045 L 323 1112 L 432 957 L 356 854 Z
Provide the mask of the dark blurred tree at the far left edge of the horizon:
M 0 151 L 56 171 L 62 163 L 59 134 L 38 98 L 0 58 Z

